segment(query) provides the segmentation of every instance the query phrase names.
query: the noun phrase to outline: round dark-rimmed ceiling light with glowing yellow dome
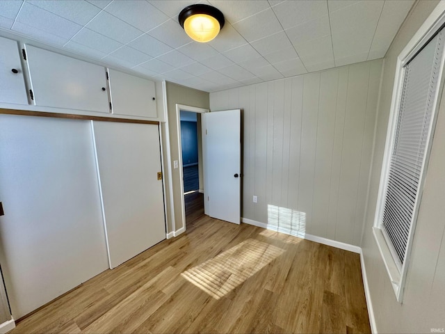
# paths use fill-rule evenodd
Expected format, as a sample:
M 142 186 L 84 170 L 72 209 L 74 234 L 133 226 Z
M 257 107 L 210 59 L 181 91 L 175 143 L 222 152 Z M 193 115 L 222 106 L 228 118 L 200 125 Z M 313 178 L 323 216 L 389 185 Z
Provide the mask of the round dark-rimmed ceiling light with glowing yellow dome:
M 216 38 L 225 22 L 224 15 L 218 8 L 199 3 L 181 10 L 178 19 L 187 35 L 201 43 Z

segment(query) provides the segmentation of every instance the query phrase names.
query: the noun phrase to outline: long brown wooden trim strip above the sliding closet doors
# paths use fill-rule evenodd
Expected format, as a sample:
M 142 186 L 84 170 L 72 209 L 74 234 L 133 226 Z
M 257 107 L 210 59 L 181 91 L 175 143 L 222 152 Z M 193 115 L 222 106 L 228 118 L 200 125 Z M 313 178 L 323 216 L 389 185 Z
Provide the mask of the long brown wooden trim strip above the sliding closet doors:
M 66 118 L 66 119 L 70 119 L 70 120 L 98 120 L 101 122 L 121 122 L 121 123 L 138 123 L 138 124 L 159 125 L 159 121 L 157 121 L 157 120 L 132 120 L 130 118 L 114 118 L 114 117 L 102 117 L 102 116 L 76 115 L 74 113 L 49 113 L 49 112 L 45 112 L 45 111 L 29 111 L 29 110 L 17 110 L 17 109 L 1 109 L 0 108 L 0 114 Z

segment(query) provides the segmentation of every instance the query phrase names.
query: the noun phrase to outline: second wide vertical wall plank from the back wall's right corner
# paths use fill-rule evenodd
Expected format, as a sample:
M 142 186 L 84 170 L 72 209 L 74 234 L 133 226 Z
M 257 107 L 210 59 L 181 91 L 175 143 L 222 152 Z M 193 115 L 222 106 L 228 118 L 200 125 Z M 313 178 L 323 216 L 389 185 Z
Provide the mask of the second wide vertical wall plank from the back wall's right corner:
M 335 132 L 335 110 L 339 71 L 321 73 L 320 105 L 315 157 L 314 200 L 312 206 L 312 234 L 326 235 L 326 221 L 329 218 L 329 196 L 332 175 L 332 148 Z

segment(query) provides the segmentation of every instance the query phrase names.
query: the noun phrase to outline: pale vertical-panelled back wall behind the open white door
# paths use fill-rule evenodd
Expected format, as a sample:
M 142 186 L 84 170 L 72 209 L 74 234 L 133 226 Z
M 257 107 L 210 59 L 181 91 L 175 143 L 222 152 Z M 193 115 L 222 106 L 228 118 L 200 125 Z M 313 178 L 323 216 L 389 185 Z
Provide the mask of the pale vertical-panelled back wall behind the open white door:
M 243 109 L 243 218 L 360 245 L 381 68 L 210 94 L 211 111 Z

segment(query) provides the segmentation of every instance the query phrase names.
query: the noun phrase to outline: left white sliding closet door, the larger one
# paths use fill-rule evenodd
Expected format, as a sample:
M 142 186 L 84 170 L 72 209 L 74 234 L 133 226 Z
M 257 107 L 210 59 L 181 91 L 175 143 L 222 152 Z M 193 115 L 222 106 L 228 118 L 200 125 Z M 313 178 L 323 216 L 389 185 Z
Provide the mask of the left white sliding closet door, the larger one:
M 0 263 L 15 319 L 106 270 L 89 121 L 0 115 Z

